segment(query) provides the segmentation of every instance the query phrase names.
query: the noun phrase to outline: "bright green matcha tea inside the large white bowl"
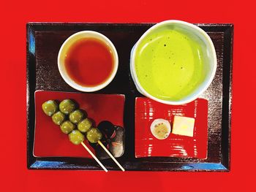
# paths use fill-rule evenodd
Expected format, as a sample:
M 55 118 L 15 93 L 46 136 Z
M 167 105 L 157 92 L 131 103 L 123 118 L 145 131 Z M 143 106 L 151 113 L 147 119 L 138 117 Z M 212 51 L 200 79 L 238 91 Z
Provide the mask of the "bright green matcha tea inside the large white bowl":
M 178 101 L 193 93 L 206 77 L 200 41 L 180 28 L 148 34 L 135 53 L 140 85 L 163 100 Z

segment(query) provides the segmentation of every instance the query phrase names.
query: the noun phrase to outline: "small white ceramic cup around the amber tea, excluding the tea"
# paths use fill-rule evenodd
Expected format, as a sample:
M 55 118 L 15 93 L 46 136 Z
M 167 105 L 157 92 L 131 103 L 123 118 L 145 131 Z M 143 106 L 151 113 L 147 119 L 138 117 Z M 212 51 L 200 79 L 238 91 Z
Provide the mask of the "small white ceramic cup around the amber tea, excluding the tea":
M 67 70 L 64 66 L 64 61 L 67 55 L 67 51 L 69 50 L 69 47 L 71 47 L 79 39 L 89 38 L 89 37 L 99 39 L 100 41 L 104 42 L 105 45 L 108 45 L 108 47 L 110 47 L 110 50 L 113 53 L 113 59 L 114 59 L 114 68 L 112 73 L 110 74 L 110 77 L 108 77 L 108 79 L 105 80 L 105 82 L 103 82 L 102 84 L 94 87 L 86 87 L 76 83 L 74 80 L 72 80 L 71 77 L 69 77 L 69 75 L 67 74 Z M 105 37 L 105 35 L 100 34 L 96 31 L 80 31 L 78 33 L 72 34 L 72 36 L 67 38 L 66 41 L 62 44 L 59 50 L 59 55 L 58 55 L 58 67 L 59 67 L 59 72 L 61 74 L 61 77 L 72 88 L 75 88 L 76 90 L 83 91 L 83 92 L 99 91 L 100 89 L 105 88 L 115 77 L 118 69 L 118 54 L 116 52 L 116 47 L 113 45 L 110 39 L 108 39 L 108 37 Z

